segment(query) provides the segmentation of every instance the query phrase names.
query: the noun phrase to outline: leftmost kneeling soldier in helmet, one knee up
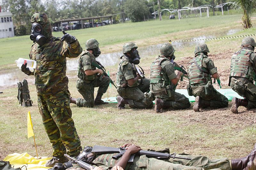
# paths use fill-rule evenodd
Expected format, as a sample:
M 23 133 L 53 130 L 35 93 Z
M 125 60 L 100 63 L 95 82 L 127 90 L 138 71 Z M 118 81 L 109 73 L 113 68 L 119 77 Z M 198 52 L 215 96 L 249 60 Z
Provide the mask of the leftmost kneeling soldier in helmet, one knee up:
M 93 107 L 94 105 L 107 104 L 101 100 L 101 97 L 108 90 L 108 85 L 110 83 L 110 78 L 100 75 L 103 74 L 101 69 L 96 69 L 93 66 L 93 61 L 100 55 L 99 42 L 96 39 L 90 39 L 85 42 L 86 51 L 83 51 L 79 55 L 76 89 L 83 98 L 70 98 L 70 103 L 76 104 L 78 107 Z M 99 87 L 97 96 L 94 100 L 94 87 Z

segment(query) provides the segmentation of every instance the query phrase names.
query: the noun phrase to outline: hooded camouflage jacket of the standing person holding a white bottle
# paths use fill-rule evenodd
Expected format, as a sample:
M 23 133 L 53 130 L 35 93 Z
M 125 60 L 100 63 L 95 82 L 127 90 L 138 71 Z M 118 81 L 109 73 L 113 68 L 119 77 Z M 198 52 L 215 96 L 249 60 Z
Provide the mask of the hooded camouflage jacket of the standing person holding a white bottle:
M 83 49 L 78 41 L 68 44 L 66 41 L 60 41 L 60 38 L 53 37 L 46 14 L 33 16 L 35 17 L 31 18 L 31 22 L 41 24 L 43 35 L 47 38 L 42 47 L 37 43 L 33 44 L 29 53 L 29 58 L 36 61 L 36 68 L 31 75 L 35 75 L 37 93 L 49 95 L 65 92 L 68 90 L 66 57 L 75 58 Z

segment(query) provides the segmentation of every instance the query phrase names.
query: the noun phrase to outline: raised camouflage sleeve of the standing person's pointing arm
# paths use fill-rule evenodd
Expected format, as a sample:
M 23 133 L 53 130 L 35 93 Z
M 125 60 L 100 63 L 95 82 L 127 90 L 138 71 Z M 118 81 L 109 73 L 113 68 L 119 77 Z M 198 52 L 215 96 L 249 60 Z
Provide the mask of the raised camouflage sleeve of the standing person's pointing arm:
M 79 54 L 83 52 L 83 48 L 80 46 L 79 42 L 76 40 L 68 44 L 66 41 L 62 41 L 61 55 L 68 58 L 76 58 Z

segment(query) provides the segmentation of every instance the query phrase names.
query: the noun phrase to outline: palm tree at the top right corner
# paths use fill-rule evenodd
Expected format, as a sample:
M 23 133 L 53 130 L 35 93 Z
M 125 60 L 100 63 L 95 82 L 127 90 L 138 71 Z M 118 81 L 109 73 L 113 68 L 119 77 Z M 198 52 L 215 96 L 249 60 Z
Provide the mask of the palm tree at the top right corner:
M 243 17 L 242 24 L 244 25 L 244 29 L 248 29 L 252 27 L 251 23 L 251 15 L 256 13 L 256 0 L 234 0 L 236 3 L 235 8 L 237 10 L 242 9 Z

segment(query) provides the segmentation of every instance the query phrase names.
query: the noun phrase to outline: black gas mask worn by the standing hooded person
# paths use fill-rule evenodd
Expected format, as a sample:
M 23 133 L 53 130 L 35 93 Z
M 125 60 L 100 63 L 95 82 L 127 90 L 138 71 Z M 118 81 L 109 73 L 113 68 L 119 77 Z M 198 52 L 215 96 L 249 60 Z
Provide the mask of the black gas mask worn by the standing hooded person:
M 46 37 L 43 35 L 43 26 L 34 22 L 31 26 L 31 35 L 30 40 L 34 43 L 36 42 L 39 46 L 42 46 L 46 43 Z

